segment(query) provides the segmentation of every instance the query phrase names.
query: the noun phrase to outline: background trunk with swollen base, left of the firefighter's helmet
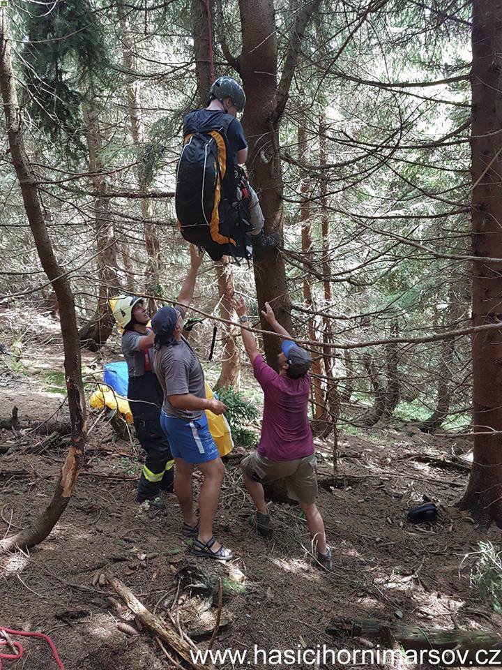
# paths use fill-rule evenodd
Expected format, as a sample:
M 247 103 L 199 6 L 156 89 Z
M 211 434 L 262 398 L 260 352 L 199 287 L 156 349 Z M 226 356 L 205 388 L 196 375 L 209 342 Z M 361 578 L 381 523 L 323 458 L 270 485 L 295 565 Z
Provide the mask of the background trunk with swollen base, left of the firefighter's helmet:
M 92 94 L 91 94 L 92 96 Z M 92 96 L 85 110 L 86 139 L 89 151 L 89 168 L 93 184 L 94 227 L 98 260 L 98 307 L 91 320 L 80 329 L 80 341 L 91 351 L 98 351 L 112 334 L 114 319 L 109 310 L 108 299 L 121 291 L 117 269 L 116 239 L 114 221 L 110 213 L 104 166 L 100 152 L 102 149 L 99 112 L 96 98 Z

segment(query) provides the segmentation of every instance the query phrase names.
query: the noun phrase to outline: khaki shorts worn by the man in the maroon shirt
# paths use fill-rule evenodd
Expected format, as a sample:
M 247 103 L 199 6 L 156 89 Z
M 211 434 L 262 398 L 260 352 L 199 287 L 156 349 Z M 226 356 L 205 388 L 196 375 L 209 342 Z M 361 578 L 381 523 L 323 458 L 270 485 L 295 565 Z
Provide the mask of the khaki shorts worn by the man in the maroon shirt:
M 292 500 L 305 502 L 309 505 L 317 498 L 316 457 L 305 456 L 294 461 L 270 461 L 258 452 L 246 456 L 241 461 L 241 468 L 248 477 L 260 484 L 284 479 L 288 495 Z

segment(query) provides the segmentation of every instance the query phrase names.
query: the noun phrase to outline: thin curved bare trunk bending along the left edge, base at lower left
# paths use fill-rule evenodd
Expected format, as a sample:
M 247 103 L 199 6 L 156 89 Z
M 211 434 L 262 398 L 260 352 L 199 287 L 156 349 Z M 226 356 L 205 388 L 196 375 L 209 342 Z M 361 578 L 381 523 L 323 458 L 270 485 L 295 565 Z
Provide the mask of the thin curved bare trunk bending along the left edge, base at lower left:
M 45 225 L 36 175 L 26 154 L 22 135 L 22 114 L 17 101 L 15 76 L 7 36 L 7 10 L 0 9 L 0 88 L 6 116 L 10 157 L 24 202 L 38 256 L 47 278 L 52 283 L 60 307 L 61 335 L 63 336 L 64 368 L 68 407 L 70 409 L 71 442 L 52 500 L 28 528 L 20 530 L 0 542 L 7 551 L 29 549 L 47 537 L 70 502 L 70 496 L 82 467 L 86 440 L 86 402 L 82 385 L 79 337 L 73 293 L 68 278 L 54 256 L 50 235 Z

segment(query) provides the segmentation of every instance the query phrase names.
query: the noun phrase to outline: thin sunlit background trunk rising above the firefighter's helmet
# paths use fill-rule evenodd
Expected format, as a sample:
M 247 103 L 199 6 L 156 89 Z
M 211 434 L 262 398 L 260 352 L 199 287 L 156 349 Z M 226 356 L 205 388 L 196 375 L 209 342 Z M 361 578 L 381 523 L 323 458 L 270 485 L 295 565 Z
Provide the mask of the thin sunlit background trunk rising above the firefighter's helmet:
M 134 57 L 134 43 L 130 32 L 130 25 L 123 9 L 119 8 L 120 24 L 122 31 L 122 57 L 125 68 L 131 73 L 126 84 L 128 96 L 128 108 L 130 129 L 132 135 L 132 142 L 136 149 L 141 151 L 145 144 L 145 131 L 141 105 L 141 88 L 137 80 L 134 79 L 135 71 L 135 57 Z M 142 162 L 137 163 L 137 181 L 139 191 L 146 193 L 148 191 L 148 184 L 146 184 L 146 177 Z M 153 202 L 147 195 L 141 201 L 142 219 L 143 219 L 143 235 L 145 241 L 147 262 L 145 268 L 145 287 L 146 293 L 149 295 L 160 295 L 162 287 L 160 285 L 160 243 L 155 225 L 151 223 L 154 218 Z M 157 311 L 157 303 L 154 298 L 149 299 L 150 314 L 153 315 Z

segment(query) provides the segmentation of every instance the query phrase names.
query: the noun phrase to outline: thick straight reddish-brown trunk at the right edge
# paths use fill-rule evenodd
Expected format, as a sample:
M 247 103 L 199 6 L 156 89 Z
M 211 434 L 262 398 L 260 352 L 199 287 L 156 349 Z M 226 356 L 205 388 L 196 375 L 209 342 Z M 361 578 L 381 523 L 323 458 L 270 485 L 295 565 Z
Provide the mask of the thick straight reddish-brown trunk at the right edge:
M 502 258 L 502 0 L 473 0 L 472 89 L 472 245 L 473 326 L 502 320 L 499 265 Z M 502 528 L 502 332 L 472 337 L 473 426 L 497 431 L 476 435 L 471 477 L 462 507 Z

